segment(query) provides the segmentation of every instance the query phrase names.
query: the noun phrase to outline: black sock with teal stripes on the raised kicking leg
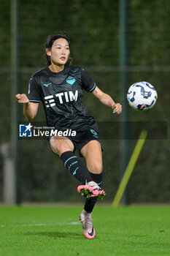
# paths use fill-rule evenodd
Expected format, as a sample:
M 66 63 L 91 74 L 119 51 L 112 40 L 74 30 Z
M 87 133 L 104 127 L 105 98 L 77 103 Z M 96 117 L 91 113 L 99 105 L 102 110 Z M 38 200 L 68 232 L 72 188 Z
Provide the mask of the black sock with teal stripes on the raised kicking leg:
M 61 160 L 66 169 L 83 184 L 85 184 L 86 181 L 93 181 L 92 176 L 90 176 L 88 172 L 88 168 L 72 151 L 66 151 L 61 154 Z

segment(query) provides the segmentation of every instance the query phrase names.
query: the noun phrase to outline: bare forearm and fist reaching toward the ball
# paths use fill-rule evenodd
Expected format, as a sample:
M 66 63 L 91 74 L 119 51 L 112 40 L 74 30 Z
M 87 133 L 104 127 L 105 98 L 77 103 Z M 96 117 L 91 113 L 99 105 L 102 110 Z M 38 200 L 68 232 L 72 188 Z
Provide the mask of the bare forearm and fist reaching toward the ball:
M 120 103 L 115 103 L 112 97 L 110 97 L 108 94 L 104 94 L 104 92 L 101 91 L 97 86 L 92 91 L 92 94 L 98 98 L 101 103 L 111 107 L 112 110 L 115 110 L 115 113 L 120 114 L 122 112 L 122 105 L 120 105 Z

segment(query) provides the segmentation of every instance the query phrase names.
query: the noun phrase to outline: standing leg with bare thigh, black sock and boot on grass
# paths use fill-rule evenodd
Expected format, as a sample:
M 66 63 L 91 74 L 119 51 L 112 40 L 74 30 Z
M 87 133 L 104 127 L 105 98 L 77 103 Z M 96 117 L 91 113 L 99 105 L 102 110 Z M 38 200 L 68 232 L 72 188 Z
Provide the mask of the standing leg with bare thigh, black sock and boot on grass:
M 101 185 L 103 170 L 101 144 L 97 140 L 91 140 L 82 148 L 81 154 L 83 157 L 85 157 L 90 176 L 98 185 Z M 90 239 L 94 238 L 95 236 L 95 229 L 93 227 L 91 214 L 93 207 L 96 204 L 96 200 L 97 197 L 87 198 L 85 201 L 84 210 L 80 214 L 83 233 L 86 238 Z

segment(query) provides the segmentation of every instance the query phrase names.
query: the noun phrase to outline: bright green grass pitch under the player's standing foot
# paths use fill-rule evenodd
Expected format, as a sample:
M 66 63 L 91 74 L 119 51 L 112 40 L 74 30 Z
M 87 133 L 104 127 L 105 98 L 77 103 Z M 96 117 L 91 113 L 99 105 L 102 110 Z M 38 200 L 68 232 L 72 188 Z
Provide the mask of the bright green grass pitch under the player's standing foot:
M 0 207 L 1 256 L 170 255 L 169 207 L 96 206 L 88 240 L 80 206 Z

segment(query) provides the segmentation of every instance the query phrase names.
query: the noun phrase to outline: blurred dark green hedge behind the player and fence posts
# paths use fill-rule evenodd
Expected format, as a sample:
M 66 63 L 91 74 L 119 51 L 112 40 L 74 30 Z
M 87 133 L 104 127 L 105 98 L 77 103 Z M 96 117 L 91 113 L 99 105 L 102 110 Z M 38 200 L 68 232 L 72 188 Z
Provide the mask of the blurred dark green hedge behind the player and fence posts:
M 18 93 L 27 93 L 31 74 L 45 66 L 45 39 L 66 31 L 71 38 L 74 65 L 85 68 L 98 87 L 116 102 L 120 97 L 119 1 L 111 0 L 24 0 L 19 2 Z M 0 9 L 0 143 L 11 133 L 11 24 L 10 1 Z M 168 121 L 170 116 L 170 8 L 168 0 L 128 1 L 128 83 L 146 80 L 158 91 L 152 110 L 137 112 L 128 107 L 129 121 Z M 15 95 L 13 95 L 15 100 Z M 84 105 L 97 121 L 119 121 L 120 116 L 85 93 Z M 36 121 L 45 120 L 40 104 Z M 19 120 L 26 121 L 23 106 Z M 131 140 L 131 154 L 136 140 Z M 112 202 L 120 183 L 120 140 L 103 140 L 104 189 Z M 147 140 L 128 187 L 129 203 L 170 203 L 169 140 Z M 3 158 L 0 156 L 0 199 L 2 200 Z M 19 165 L 22 201 L 80 202 L 79 184 L 50 151 L 46 140 L 20 140 Z M 66 187 L 63 191 L 63 185 Z

